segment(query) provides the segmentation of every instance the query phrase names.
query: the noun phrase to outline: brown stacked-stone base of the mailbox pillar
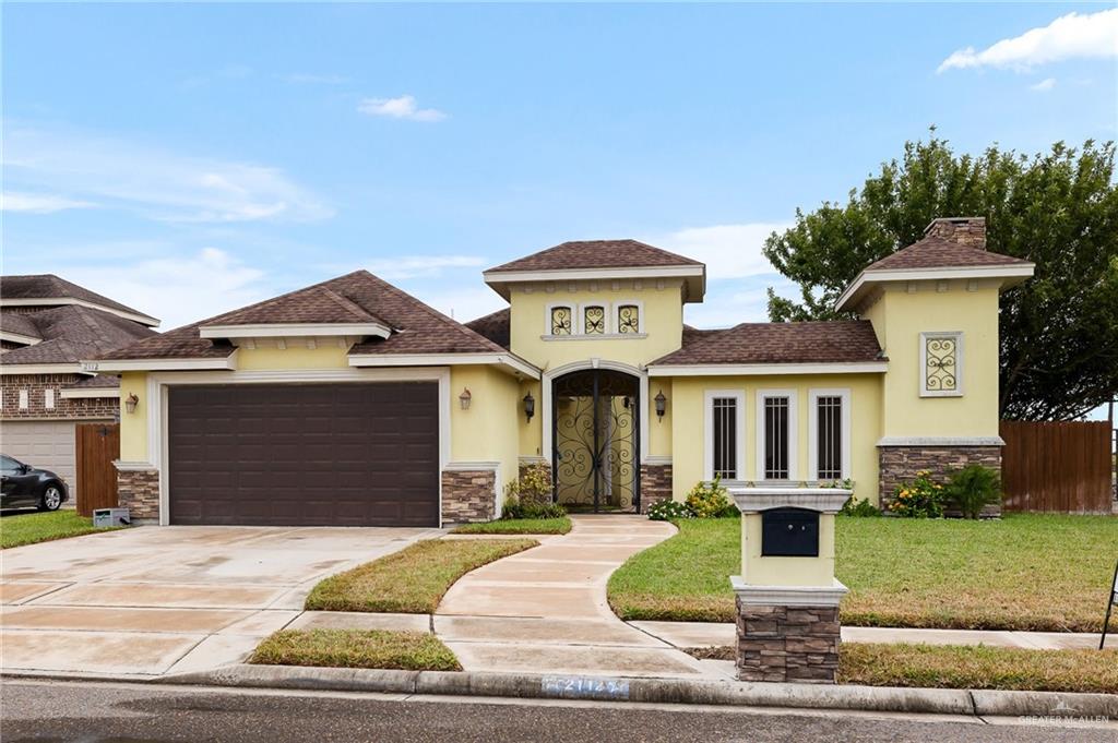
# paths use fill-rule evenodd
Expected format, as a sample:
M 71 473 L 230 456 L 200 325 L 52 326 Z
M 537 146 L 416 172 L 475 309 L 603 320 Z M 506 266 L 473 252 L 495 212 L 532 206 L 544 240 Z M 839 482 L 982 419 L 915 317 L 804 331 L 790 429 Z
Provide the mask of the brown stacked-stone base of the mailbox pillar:
M 738 598 L 739 680 L 833 684 L 839 641 L 839 607 L 751 606 Z

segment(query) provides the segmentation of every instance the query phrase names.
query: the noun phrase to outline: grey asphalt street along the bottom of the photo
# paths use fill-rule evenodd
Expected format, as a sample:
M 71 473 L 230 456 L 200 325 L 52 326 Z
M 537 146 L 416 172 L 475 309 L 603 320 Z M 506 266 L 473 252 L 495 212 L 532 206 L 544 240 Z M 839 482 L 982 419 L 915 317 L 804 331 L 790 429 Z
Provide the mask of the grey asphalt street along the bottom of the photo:
M 1112 743 L 1118 721 L 913 716 L 7 679 L 0 739 L 311 741 L 1004 741 Z

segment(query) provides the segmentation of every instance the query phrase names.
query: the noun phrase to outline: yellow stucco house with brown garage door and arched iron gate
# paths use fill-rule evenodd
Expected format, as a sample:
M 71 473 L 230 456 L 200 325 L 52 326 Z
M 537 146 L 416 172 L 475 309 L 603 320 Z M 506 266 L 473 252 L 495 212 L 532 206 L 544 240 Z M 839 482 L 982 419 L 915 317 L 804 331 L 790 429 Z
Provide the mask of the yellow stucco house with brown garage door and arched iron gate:
M 998 466 L 998 293 L 1032 275 L 944 219 L 865 268 L 861 320 L 683 324 L 705 267 L 635 240 L 492 268 L 466 325 L 357 272 L 102 354 L 139 399 L 120 497 L 182 524 L 437 525 L 500 514 L 530 465 L 571 507 L 698 482 L 901 479 Z

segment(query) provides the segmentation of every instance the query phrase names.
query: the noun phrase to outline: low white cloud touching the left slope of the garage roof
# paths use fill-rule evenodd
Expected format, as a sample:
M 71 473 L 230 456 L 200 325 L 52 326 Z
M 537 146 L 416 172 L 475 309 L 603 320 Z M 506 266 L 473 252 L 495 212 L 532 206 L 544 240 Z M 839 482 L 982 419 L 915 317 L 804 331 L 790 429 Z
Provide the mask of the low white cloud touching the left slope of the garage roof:
M 126 265 L 68 265 L 56 273 L 159 317 L 161 331 L 267 299 L 281 290 L 264 280 L 263 270 L 212 247 Z

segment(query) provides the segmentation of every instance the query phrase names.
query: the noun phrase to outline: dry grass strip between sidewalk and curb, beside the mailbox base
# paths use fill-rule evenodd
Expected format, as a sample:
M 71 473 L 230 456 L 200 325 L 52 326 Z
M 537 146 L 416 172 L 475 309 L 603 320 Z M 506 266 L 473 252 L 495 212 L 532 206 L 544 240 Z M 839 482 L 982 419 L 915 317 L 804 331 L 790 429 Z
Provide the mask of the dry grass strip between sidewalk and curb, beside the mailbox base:
M 733 660 L 730 646 L 689 648 Z M 839 683 L 863 686 L 1118 693 L 1118 650 L 1029 650 L 960 645 L 844 642 Z

